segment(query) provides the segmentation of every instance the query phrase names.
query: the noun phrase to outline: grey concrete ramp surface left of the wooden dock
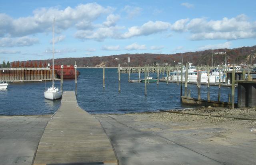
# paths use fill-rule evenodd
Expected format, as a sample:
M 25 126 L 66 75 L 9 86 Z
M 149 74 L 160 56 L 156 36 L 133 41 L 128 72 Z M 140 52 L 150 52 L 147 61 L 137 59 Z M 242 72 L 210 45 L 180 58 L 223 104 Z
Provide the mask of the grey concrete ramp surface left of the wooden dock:
M 0 116 L 0 165 L 31 165 L 50 115 Z

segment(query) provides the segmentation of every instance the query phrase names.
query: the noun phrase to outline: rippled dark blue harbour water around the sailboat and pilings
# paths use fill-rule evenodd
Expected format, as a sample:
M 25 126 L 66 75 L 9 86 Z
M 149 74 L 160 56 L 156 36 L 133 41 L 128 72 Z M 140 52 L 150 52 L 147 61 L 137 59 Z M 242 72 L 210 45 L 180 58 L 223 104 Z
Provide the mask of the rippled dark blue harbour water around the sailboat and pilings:
M 176 83 L 149 83 L 145 96 L 144 83 L 128 83 L 128 74 L 121 74 L 121 91 L 118 92 L 117 69 L 105 70 L 105 89 L 102 87 L 102 69 L 86 68 L 79 71 L 81 75 L 77 82 L 77 101 L 89 113 L 128 113 L 187 107 L 180 103 L 180 86 Z M 150 76 L 156 78 L 157 75 Z M 141 78 L 144 78 L 144 74 L 141 74 Z M 131 74 L 130 79 L 137 80 L 138 74 Z M 10 83 L 7 90 L 0 90 L 0 115 L 54 113 L 60 106 L 60 99 L 44 99 L 44 89 L 50 87 L 51 83 Z M 63 83 L 64 90 L 75 89 L 74 80 L 64 80 Z M 56 81 L 55 85 L 60 86 L 60 81 Z M 196 85 L 188 84 L 188 89 L 192 97 L 197 97 Z M 207 98 L 208 90 L 207 85 L 201 85 L 202 99 Z M 210 86 L 212 100 L 218 99 L 218 91 L 218 86 Z M 231 88 L 221 87 L 220 92 L 221 101 L 227 102 Z

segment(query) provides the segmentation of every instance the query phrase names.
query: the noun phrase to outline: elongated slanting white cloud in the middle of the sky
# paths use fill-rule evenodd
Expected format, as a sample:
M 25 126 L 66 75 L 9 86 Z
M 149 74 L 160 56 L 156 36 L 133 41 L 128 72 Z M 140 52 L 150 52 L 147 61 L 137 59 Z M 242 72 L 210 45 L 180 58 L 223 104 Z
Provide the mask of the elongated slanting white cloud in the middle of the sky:
M 150 34 L 162 32 L 168 30 L 171 24 L 168 22 L 162 21 L 148 21 L 147 23 L 143 24 L 142 26 L 132 26 L 128 29 L 128 32 L 121 35 L 121 38 L 131 38 L 134 36 L 148 36 Z

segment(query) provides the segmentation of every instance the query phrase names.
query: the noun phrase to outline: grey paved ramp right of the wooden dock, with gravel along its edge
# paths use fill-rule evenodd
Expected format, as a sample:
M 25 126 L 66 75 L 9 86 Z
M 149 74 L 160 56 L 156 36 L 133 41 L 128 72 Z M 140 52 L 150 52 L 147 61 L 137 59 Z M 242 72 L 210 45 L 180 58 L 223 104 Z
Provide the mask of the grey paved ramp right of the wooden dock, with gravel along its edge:
M 256 139 L 249 129 L 226 133 L 219 125 L 146 121 L 147 115 L 95 115 L 120 165 L 256 164 Z

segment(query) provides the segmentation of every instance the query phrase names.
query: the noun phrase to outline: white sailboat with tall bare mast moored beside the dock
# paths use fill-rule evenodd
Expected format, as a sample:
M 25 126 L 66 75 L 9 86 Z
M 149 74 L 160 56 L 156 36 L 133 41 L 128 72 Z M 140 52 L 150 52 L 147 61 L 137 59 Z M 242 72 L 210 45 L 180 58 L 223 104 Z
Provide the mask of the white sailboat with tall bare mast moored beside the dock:
M 54 87 L 54 18 L 53 18 L 53 39 L 52 39 L 53 49 L 52 49 L 52 87 L 49 87 L 44 91 L 44 97 L 46 99 L 54 100 L 59 99 L 62 96 L 62 91 L 58 87 Z

